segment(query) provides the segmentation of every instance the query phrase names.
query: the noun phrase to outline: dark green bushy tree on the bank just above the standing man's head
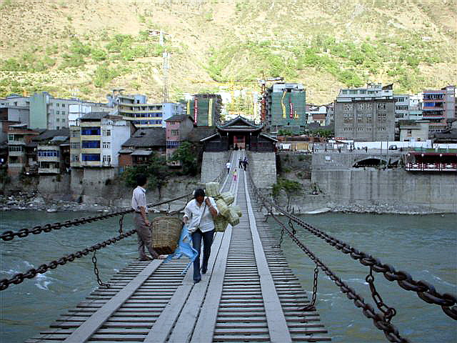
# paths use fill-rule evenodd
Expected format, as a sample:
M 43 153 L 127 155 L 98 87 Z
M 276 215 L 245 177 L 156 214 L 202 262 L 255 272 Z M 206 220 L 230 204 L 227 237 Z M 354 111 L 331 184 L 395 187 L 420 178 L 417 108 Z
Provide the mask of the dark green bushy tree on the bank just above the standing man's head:
M 153 154 L 149 163 L 140 164 L 126 169 L 122 173 L 122 179 L 129 187 L 136 187 L 136 176 L 144 174 L 148 178 L 148 189 L 157 189 L 159 191 L 159 198 L 161 197 L 161 189 L 166 184 L 166 177 L 169 175 L 168 167 L 166 166 L 166 159 L 159 154 Z

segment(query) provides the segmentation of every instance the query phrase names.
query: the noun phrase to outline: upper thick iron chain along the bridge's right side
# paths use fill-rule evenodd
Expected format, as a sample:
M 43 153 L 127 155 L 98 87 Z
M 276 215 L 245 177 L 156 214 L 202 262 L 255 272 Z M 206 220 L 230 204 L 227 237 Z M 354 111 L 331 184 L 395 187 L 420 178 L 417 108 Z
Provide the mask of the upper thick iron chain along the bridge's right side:
M 288 219 L 291 219 L 293 222 L 308 230 L 308 232 L 311 232 L 311 234 L 314 234 L 316 237 L 323 239 L 332 247 L 341 250 L 341 252 L 343 252 L 344 254 L 349 254 L 352 259 L 358 260 L 358 262 L 360 262 L 364 266 L 373 268 L 374 272 L 382 273 L 384 277 L 388 279 L 388 281 L 396 281 L 401 288 L 406 289 L 407 291 L 416 292 L 418 297 L 421 298 L 424 302 L 440 306 L 441 309 L 443 309 L 443 312 L 446 315 L 448 315 L 448 317 L 457 320 L 456 295 L 450 293 L 441 294 L 436 291 L 435 287 L 432 284 L 425 282 L 423 280 L 416 281 L 413 279 L 413 277 L 411 277 L 410 274 L 408 274 L 408 272 L 397 272 L 396 269 L 393 266 L 391 266 L 391 264 L 383 264 L 381 260 L 376 259 L 370 254 L 367 254 L 366 252 L 360 252 L 358 251 L 358 249 L 351 247 L 351 245 L 342 242 L 339 239 L 331 237 L 330 235 L 326 234 L 326 232 L 323 232 L 319 229 L 316 229 L 315 227 L 312 227 L 310 224 L 303 222 L 298 217 L 292 216 L 284 209 L 278 207 L 278 205 L 271 202 L 271 200 L 267 199 L 266 197 L 263 197 L 263 195 L 260 192 L 258 192 L 256 185 L 253 184 L 253 180 L 249 173 L 248 176 L 254 193 L 258 197 L 263 199 L 264 204 L 269 204 L 272 210 L 273 208 L 277 209 L 278 212 L 281 212 L 281 214 L 283 214 L 285 217 L 288 217 Z

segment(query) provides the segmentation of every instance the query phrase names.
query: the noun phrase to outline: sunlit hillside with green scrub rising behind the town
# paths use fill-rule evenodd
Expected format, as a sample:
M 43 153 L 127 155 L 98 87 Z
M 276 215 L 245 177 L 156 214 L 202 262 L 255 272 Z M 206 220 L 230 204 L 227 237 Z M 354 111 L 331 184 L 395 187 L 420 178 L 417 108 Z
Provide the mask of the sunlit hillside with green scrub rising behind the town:
M 197 81 L 262 75 L 302 82 L 314 103 L 368 81 L 398 93 L 457 83 L 455 1 L 1 0 L 0 13 L 0 96 L 103 101 L 121 87 L 160 101 L 164 50 L 171 100 L 219 89 Z

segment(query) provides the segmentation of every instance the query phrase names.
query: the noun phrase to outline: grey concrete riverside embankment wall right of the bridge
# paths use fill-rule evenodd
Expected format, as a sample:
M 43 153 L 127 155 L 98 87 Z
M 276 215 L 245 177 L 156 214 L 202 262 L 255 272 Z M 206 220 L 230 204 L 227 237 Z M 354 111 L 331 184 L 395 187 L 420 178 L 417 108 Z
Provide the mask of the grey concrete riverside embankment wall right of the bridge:
M 457 212 L 457 173 L 406 172 L 403 167 L 353 168 L 376 154 L 313 154 L 311 182 L 321 194 L 341 205 L 421 207 L 436 212 Z M 388 159 L 398 156 L 391 154 Z

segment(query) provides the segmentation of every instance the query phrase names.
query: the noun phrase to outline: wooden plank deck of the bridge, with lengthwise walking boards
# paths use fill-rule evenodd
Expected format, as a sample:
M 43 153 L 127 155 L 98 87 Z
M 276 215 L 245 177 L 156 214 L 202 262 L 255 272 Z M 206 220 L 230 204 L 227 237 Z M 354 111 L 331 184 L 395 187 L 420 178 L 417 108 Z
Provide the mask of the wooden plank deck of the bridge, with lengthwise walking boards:
M 232 166 L 240 154 L 233 154 Z M 306 292 L 251 202 L 244 172 L 236 183 L 226 177 L 228 190 L 243 217 L 216 234 L 201 282 L 192 282 L 192 268 L 181 275 L 185 257 L 131 262 L 109 289 L 96 289 L 26 342 L 330 341 L 318 313 L 300 311 Z

